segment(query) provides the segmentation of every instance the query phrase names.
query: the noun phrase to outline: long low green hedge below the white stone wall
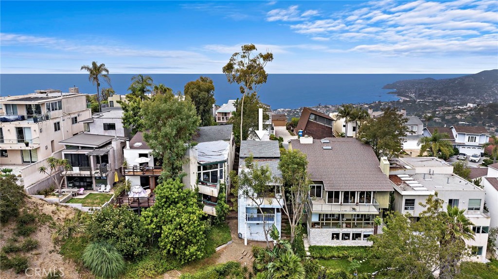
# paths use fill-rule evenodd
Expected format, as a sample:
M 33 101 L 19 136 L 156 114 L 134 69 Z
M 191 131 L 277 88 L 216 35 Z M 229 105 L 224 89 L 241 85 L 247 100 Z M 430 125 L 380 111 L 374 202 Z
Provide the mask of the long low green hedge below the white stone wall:
M 309 252 L 314 259 L 364 260 L 370 256 L 370 250 L 365 246 L 310 246 Z

